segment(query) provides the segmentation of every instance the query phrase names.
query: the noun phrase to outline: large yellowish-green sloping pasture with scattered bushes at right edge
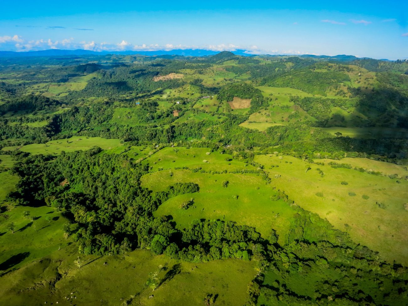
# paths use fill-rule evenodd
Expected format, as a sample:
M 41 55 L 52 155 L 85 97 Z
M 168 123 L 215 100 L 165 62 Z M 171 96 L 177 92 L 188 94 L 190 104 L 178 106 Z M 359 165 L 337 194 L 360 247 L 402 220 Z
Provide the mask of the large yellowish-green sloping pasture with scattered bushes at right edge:
M 348 232 L 355 242 L 379 251 L 384 259 L 408 264 L 408 212 L 403 206 L 407 181 L 398 184 L 388 177 L 308 164 L 290 156 L 258 155 L 255 161 L 296 204 Z

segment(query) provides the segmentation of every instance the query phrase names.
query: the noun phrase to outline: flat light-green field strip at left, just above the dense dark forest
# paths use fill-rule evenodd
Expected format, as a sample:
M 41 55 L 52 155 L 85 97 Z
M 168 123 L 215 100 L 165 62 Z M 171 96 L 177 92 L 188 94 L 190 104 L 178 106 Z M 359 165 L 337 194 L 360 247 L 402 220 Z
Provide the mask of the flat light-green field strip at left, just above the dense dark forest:
M 101 137 L 74 136 L 67 139 L 51 140 L 45 144 L 27 144 L 25 146 L 4 147 L 2 150 L 20 150 L 31 154 L 59 154 L 61 151 L 72 152 L 91 149 L 99 146 L 102 149 L 112 149 L 121 146 L 118 139 L 104 139 Z M 0 157 L 1 159 L 1 157 Z

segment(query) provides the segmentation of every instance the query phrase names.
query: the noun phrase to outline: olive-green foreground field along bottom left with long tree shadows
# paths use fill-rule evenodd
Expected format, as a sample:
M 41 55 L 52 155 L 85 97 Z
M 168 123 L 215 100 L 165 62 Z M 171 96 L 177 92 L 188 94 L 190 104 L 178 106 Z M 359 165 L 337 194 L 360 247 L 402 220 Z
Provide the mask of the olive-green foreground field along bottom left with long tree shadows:
M 0 278 L 7 305 L 202 305 L 208 294 L 217 305 L 242 305 L 255 276 L 253 262 L 178 262 L 137 250 L 126 255 L 80 255 L 75 244 Z M 157 274 L 155 290 L 145 286 Z M 95 286 L 95 284 L 98 284 Z M 18 294 L 17 294 L 18 293 Z M 152 297 L 151 297 L 152 296 Z M 72 297 L 72 298 L 71 298 Z

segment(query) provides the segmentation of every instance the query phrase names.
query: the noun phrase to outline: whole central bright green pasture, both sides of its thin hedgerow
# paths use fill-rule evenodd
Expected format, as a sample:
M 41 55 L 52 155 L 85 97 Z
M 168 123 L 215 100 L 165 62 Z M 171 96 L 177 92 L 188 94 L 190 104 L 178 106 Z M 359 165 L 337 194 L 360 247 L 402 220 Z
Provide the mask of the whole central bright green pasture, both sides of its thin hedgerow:
M 157 209 L 155 215 L 172 215 L 179 228 L 201 218 L 231 220 L 254 226 L 264 237 L 269 235 L 271 228 L 275 228 L 281 236 L 279 242 L 283 243 L 289 219 L 295 211 L 282 200 L 271 200 L 275 191 L 259 175 L 231 173 L 255 171 L 253 166 L 245 166 L 237 160 L 227 162 L 225 158 L 229 155 L 216 152 L 206 155 L 206 151 L 209 149 L 164 148 L 143 161 L 153 168 L 152 173 L 142 177 L 142 184 L 153 191 L 163 191 L 176 182 L 194 182 L 200 186 L 198 193 L 169 199 Z M 206 172 L 174 169 L 178 167 L 202 167 Z M 216 174 L 214 171 L 223 173 Z M 224 181 L 229 182 L 226 188 L 222 186 Z M 194 198 L 194 206 L 181 209 L 181 203 L 191 197 Z

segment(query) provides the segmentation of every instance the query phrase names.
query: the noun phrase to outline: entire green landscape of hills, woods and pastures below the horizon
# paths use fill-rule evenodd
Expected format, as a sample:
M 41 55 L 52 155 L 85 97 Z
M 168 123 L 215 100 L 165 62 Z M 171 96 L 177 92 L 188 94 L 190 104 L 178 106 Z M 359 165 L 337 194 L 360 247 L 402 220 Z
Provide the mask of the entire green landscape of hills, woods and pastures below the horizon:
M 406 71 L 1 59 L 0 301 L 406 305 Z

